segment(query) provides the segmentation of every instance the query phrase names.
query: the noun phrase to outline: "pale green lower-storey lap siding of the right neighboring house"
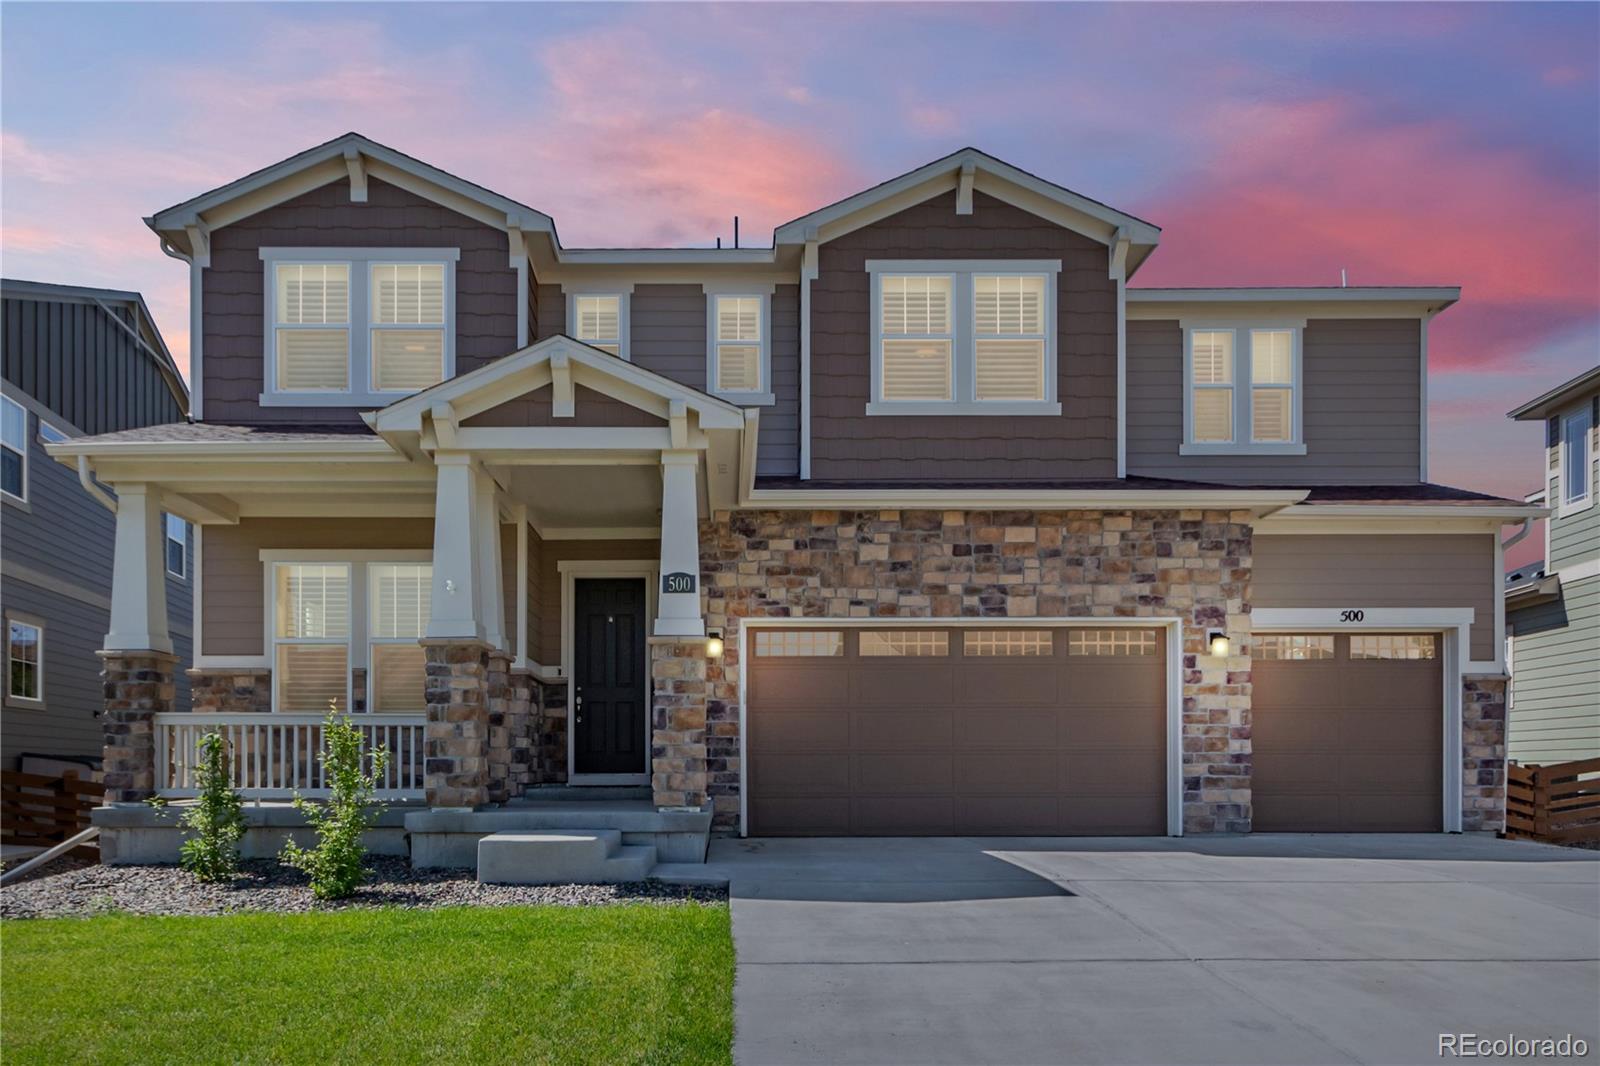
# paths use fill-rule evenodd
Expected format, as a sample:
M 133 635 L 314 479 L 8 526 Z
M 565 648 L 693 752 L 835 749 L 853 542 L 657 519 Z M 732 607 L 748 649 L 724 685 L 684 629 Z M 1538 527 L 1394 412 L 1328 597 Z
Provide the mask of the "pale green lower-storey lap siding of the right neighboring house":
M 1523 763 L 1600 755 L 1600 578 L 1507 616 L 1512 707 L 1506 754 Z

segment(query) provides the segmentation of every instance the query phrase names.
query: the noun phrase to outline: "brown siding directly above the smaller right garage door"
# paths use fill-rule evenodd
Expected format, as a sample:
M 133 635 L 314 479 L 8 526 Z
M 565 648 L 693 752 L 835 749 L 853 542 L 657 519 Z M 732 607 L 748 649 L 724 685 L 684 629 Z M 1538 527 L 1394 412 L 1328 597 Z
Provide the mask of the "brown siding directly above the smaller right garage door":
M 1494 658 L 1490 533 L 1264 535 L 1254 541 L 1251 607 L 1472 607 L 1472 658 Z

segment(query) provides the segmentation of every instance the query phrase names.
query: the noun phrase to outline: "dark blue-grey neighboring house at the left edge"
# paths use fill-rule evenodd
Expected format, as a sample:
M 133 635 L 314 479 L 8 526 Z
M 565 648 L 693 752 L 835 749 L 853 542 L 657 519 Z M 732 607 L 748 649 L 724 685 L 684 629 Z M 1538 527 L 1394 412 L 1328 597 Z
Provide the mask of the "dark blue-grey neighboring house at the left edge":
M 110 631 L 115 520 L 45 445 L 179 421 L 189 392 L 138 293 L 0 280 L 0 765 L 14 770 L 22 755 L 99 765 L 94 653 Z M 158 576 L 187 659 L 190 533 L 176 517 L 160 533 Z M 181 672 L 176 687 L 186 701 Z

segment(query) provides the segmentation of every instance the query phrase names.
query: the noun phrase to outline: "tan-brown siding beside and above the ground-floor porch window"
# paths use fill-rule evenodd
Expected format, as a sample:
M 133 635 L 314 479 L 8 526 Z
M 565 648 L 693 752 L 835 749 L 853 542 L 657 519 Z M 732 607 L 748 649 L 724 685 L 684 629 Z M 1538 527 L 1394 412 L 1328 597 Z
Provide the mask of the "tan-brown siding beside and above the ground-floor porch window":
M 432 547 L 432 519 L 240 519 L 205 527 L 198 655 L 262 655 L 261 549 Z

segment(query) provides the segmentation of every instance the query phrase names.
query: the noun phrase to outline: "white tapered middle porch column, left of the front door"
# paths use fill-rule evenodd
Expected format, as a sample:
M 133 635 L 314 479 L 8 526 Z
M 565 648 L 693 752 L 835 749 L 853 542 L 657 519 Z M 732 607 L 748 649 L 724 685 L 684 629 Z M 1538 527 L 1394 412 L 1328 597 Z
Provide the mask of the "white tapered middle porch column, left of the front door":
M 482 498 L 494 506 L 488 475 L 466 455 L 434 456 L 438 488 L 434 498 L 434 602 L 427 619 L 430 640 L 486 640 L 482 570 L 483 541 L 477 527 Z M 490 523 L 494 536 L 494 525 Z M 498 557 L 498 552 L 494 552 Z

